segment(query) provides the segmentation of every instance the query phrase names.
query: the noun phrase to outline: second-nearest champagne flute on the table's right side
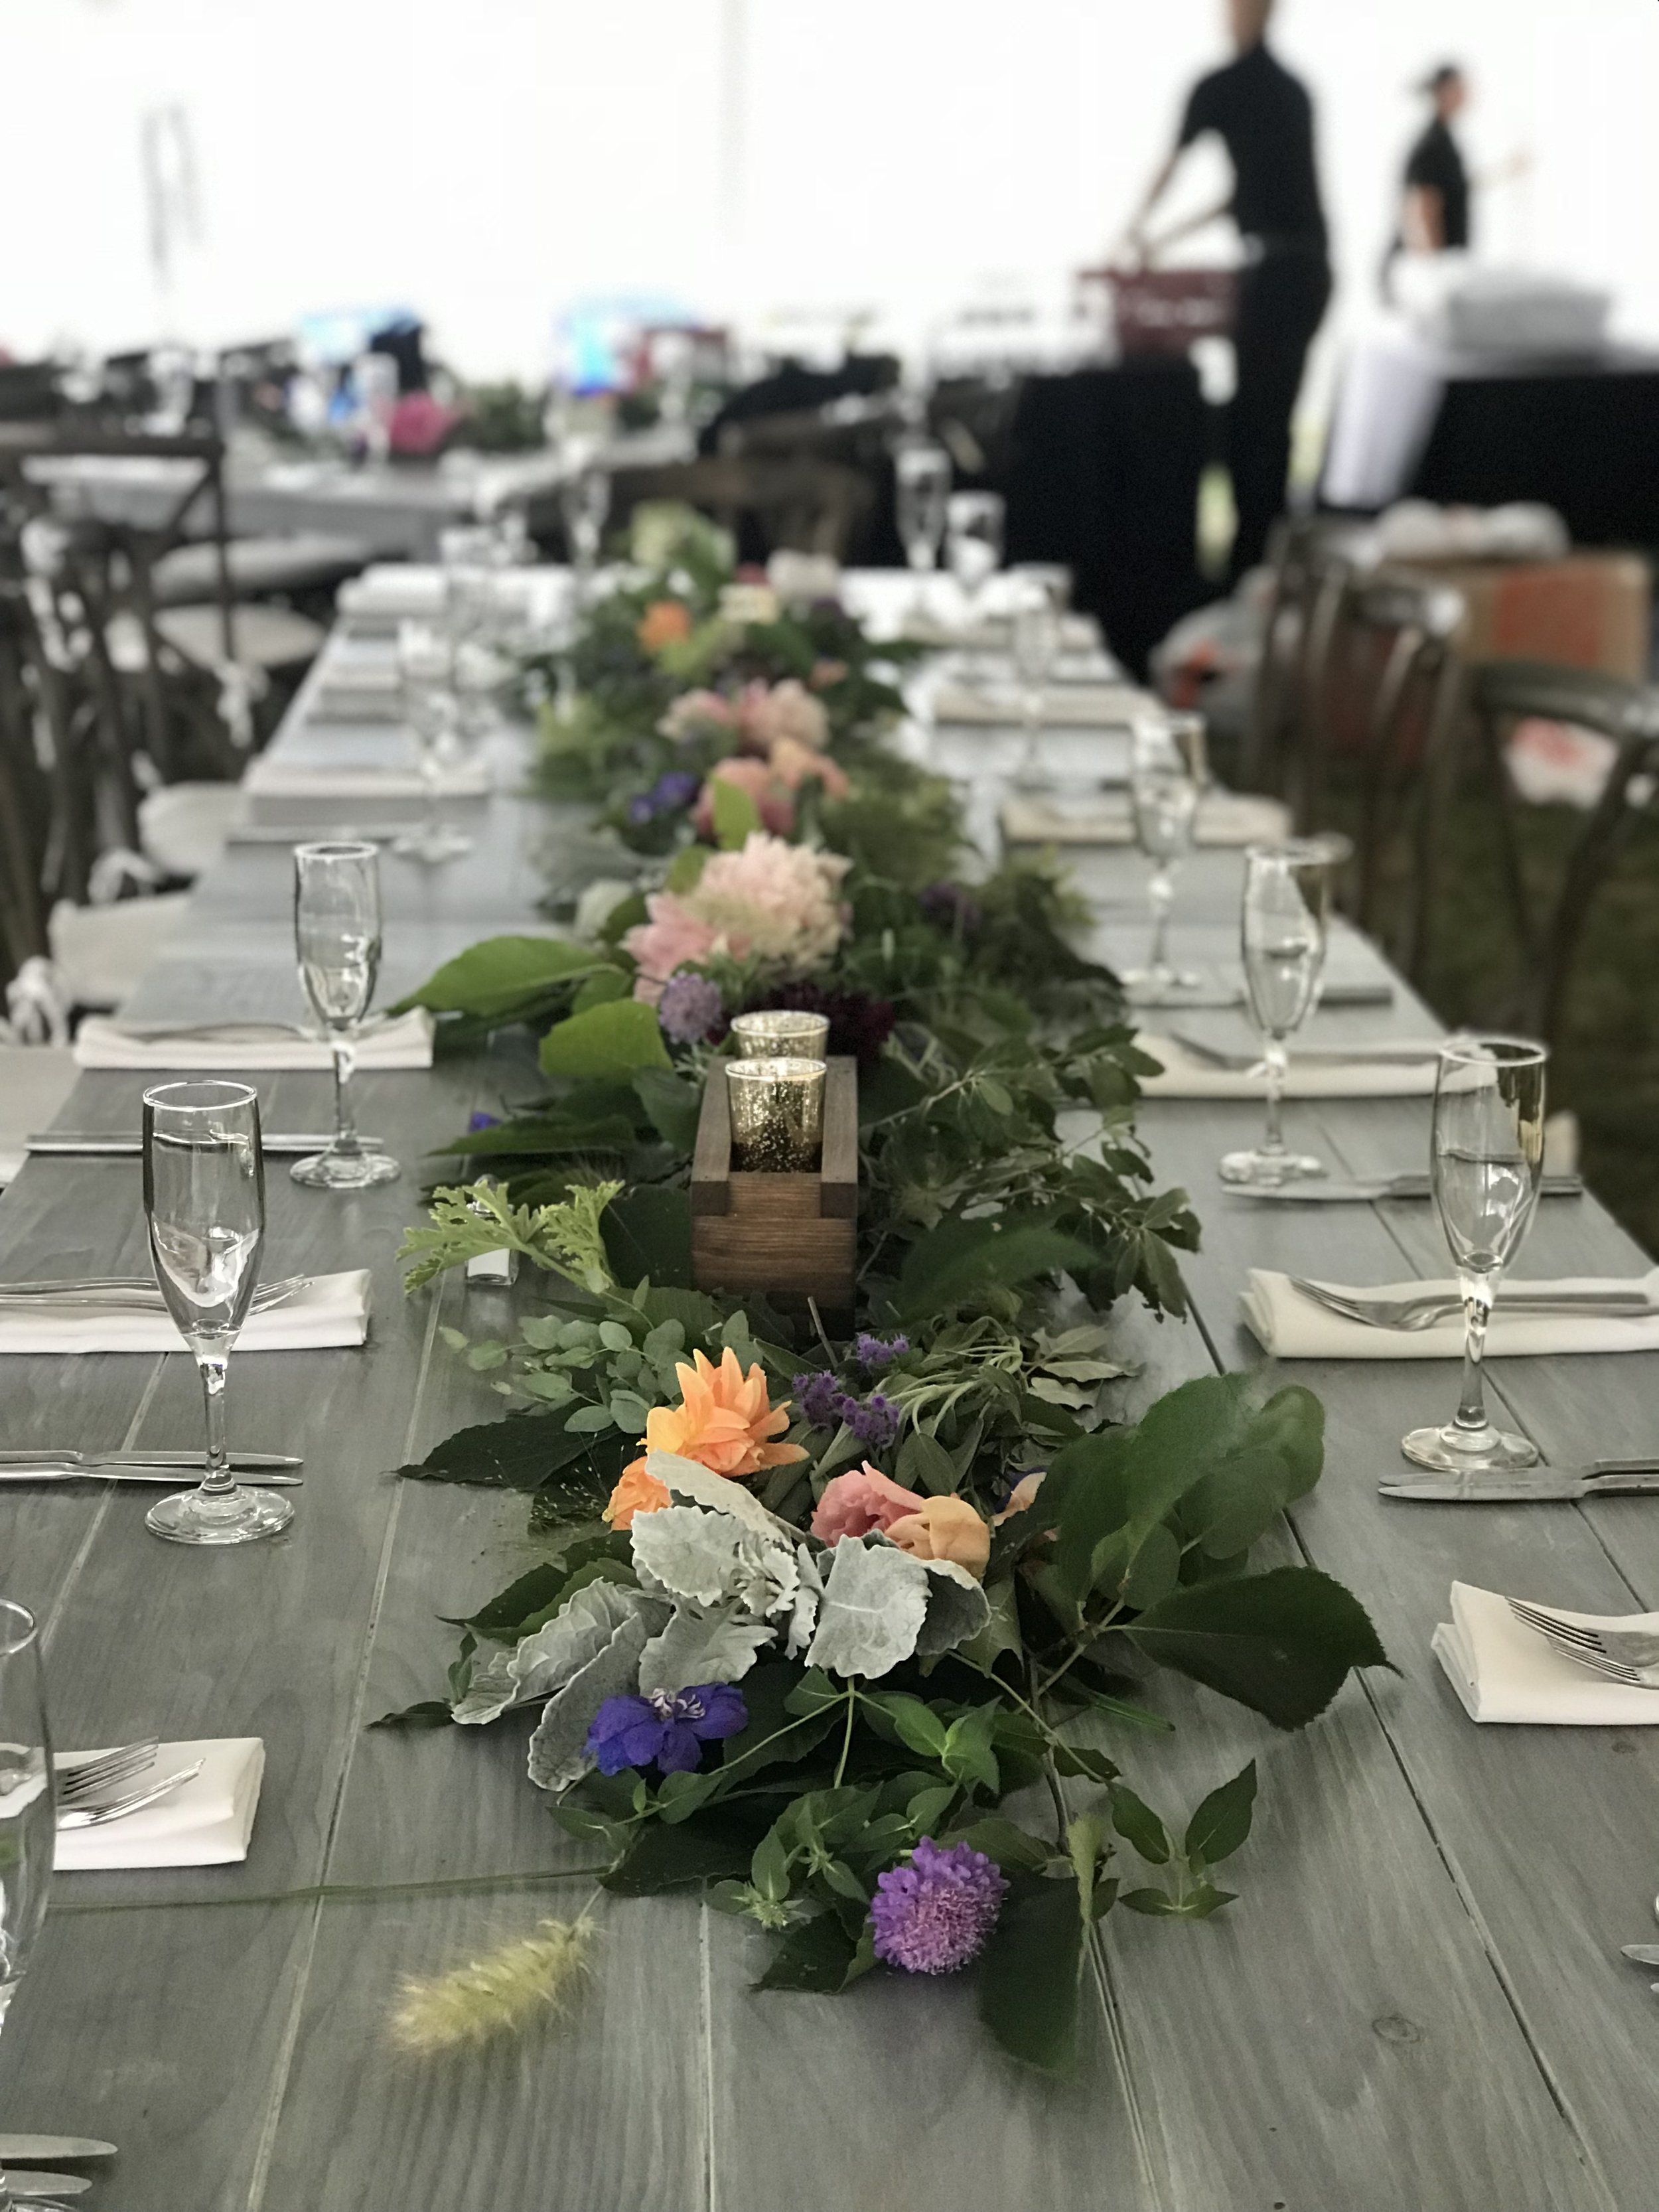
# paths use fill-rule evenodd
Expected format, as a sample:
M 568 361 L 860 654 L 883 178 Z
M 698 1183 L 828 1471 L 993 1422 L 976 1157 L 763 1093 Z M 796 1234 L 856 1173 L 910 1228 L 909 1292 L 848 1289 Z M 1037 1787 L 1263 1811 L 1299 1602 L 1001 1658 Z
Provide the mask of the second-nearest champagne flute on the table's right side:
M 1250 1013 L 1261 1031 L 1267 1064 L 1267 1130 L 1254 1152 L 1228 1152 L 1221 1181 L 1254 1190 L 1323 1175 L 1312 1152 L 1285 1148 L 1283 1095 L 1292 1037 L 1318 995 L 1325 973 L 1332 876 L 1345 856 L 1338 838 L 1298 838 L 1290 845 L 1252 845 L 1245 854 L 1243 971 Z

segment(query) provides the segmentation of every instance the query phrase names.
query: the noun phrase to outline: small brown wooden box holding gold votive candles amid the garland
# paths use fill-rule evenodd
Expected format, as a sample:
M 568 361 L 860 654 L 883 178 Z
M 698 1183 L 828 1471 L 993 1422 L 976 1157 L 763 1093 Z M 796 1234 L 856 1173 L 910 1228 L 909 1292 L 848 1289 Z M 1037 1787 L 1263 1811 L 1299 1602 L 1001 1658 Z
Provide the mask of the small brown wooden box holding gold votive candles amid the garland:
M 807 1298 L 830 1329 L 852 1327 L 858 1241 L 858 1062 L 830 1060 L 823 1164 L 816 1175 L 732 1170 L 726 1064 L 703 1088 L 692 1155 L 692 1281 L 741 1296 L 765 1292 L 785 1314 Z

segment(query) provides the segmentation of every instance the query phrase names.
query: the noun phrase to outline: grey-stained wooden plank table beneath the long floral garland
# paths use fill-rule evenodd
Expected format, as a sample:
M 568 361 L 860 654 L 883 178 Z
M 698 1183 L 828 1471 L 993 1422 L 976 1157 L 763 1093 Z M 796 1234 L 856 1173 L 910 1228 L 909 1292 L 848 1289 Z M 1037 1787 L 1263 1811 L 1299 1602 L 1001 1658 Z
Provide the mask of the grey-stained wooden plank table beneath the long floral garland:
M 292 757 L 325 745 L 301 719 Z M 274 805 L 274 803 L 268 803 Z M 299 810 L 294 810 L 299 812 Z M 314 814 L 327 810 L 312 810 Z M 358 810 L 361 812 L 361 810 Z M 378 814 L 380 810 L 376 810 Z M 493 929 L 538 927 L 544 867 L 580 825 L 498 796 L 473 856 L 385 863 L 387 978 L 407 987 Z M 564 854 L 564 858 L 562 858 Z M 1079 863 L 1106 953 L 1144 947 L 1141 867 Z M 1223 960 L 1239 860 L 1188 872 L 1177 947 Z M 237 849 L 133 1011 L 296 1015 L 288 856 Z M 1349 940 L 1347 971 L 1374 956 Z M 1420 1033 L 1391 1011 L 1318 1015 Z M 150 1077 L 86 1075 L 64 1119 L 133 1128 Z M 292 1531 L 223 1555 L 144 1533 L 135 1491 L 9 1493 L 4 1586 L 49 1632 L 60 1743 L 259 1734 L 268 1772 L 246 1865 L 75 1874 L 55 1889 L 0 2044 L 0 2126 L 113 2137 L 88 2199 L 119 2212 L 1644 2212 L 1659 2201 L 1646 1978 L 1659 1739 L 1473 1728 L 1429 1655 L 1453 1577 L 1593 1610 L 1659 1604 L 1659 1515 L 1593 1506 L 1387 1504 L 1400 1433 L 1451 1409 L 1455 1367 L 1296 1365 L 1329 1416 L 1327 1473 L 1285 1557 L 1340 1575 L 1398 1674 L 1352 1681 L 1283 1736 L 1170 1681 L 1179 1734 L 1119 1743 L 1183 1809 L 1261 1761 L 1241 1898 L 1201 1927 L 1115 1913 L 1086 1978 L 1071 2084 L 1004 2062 L 971 1993 L 878 1975 L 841 2000 L 757 1995 L 759 1940 L 690 1898 L 599 1905 L 575 2022 L 487 2055 L 414 2064 L 385 2037 L 398 1982 L 571 1913 L 588 1856 L 524 1781 L 529 1721 L 480 1734 L 365 1732 L 440 1688 L 467 1613 L 526 1559 L 524 1504 L 400 1484 L 392 1469 L 500 1407 L 438 1338 L 504 1325 L 520 1292 L 458 1281 L 407 1298 L 398 1230 L 422 1155 L 473 1106 L 522 1095 L 511 1057 L 365 1075 L 363 1126 L 405 1181 L 332 1199 L 270 1172 L 272 1276 L 367 1263 L 367 1349 L 232 1363 L 232 1440 L 305 1453 Z M 270 1126 L 319 1126 L 319 1075 L 261 1079 Z M 1239 1325 L 1250 1263 L 1385 1281 L 1444 1272 L 1425 1206 L 1265 1210 L 1214 1161 L 1259 1108 L 1157 1102 L 1159 1175 L 1192 1192 L 1192 1318 L 1124 1307 L 1141 1363 L 1126 1409 L 1261 1360 Z M 1352 1170 L 1425 1159 L 1425 1102 L 1290 1108 L 1294 1139 Z M 0 1272 L 142 1270 L 133 1161 L 35 1161 L 0 1201 Z M 1590 1199 L 1540 1210 L 1528 1272 L 1635 1272 Z M 1493 1389 L 1548 1455 L 1652 1449 L 1659 1356 L 1513 1360 Z M 4 1358 L 7 1442 L 195 1442 L 188 1360 Z

